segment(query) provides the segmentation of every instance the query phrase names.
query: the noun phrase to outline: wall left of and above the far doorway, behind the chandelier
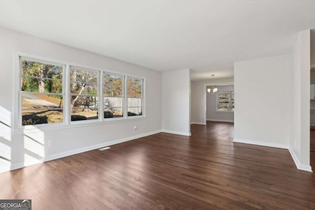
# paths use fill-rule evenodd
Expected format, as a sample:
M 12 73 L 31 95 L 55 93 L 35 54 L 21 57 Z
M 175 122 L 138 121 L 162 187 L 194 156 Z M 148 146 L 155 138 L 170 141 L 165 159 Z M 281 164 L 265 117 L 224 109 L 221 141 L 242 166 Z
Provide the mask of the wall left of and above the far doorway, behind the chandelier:
M 206 85 L 212 85 L 212 79 L 191 81 L 191 123 L 206 123 Z M 234 84 L 233 78 L 216 79 L 214 85 Z

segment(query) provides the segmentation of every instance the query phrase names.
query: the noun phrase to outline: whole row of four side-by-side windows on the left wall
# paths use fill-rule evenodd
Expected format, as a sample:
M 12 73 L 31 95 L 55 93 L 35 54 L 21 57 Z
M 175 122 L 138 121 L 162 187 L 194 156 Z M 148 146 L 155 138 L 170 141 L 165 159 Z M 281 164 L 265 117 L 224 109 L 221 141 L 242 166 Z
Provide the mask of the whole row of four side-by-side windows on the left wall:
M 18 59 L 18 128 L 144 117 L 144 79 L 28 55 Z

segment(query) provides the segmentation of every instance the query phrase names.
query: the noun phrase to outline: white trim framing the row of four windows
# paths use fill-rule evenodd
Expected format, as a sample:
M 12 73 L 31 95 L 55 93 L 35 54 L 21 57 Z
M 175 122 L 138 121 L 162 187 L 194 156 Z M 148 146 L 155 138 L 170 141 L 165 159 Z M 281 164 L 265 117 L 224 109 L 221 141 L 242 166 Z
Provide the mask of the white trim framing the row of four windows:
M 35 61 L 35 62 L 43 62 L 47 64 L 54 64 L 63 66 L 63 122 L 55 122 L 55 123 L 46 123 L 46 124 L 36 124 L 36 125 L 22 125 L 22 98 L 21 98 L 21 63 L 20 59 L 24 58 L 26 60 Z M 129 74 L 123 74 L 117 71 L 108 70 L 106 68 L 97 68 L 97 67 L 91 67 L 86 66 L 82 64 L 67 62 L 64 60 L 55 60 L 55 59 L 49 59 L 46 57 L 40 57 L 28 53 L 22 53 L 18 51 L 13 52 L 13 110 L 12 113 L 12 133 L 23 133 L 24 131 L 28 130 L 29 132 L 36 132 L 39 129 L 40 130 L 59 130 L 59 129 L 65 129 L 65 128 L 75 128 L 75 127 L 82 127 L 82 126 L 90 126 L 90 125 L 98 125 L 98 124 L 108 124 L 108 123 L 116 123 L 120 121 L 128 121 L 128 120 L 141 120 L 146 118 L 146 78 L 136 75 L 129 75 Z M 98 115 L 98 119 L 96 120 L 79 120 L 79 121 L 71 121 L 70 117 L 70 68 L 76 67 L 82 70 L 88 70 L 88 71 L 95 71 L 98 72 L 98 112 L 101 113 Z M 124 107 L 124 117 L 122 118 L 107 118 L 104 119 L 103 117 L 103 74 L 111 74 L 116 76 L 122 76 L 125 81 L 127 77 L 132 77 L 135 79 L 142 79 L 143 80 L 143 87 L 142 87 L 142 104 L 143 104 L 143 110 L 142 110 L 142 116 L 127 116 L 127 106 Z M 18 81 L 16 78 L 19 78 Z M 126 83 L 126 82 L 125 82 Z M 124 83 L 124 90 L 126 89 L 126 84 Z M 126 92 L 126 90 L 125 90 Z M 101 97 L 102 96 L 102 97 Z M 127 101 L 126 94 L 124 95 L 124 103 Z M 102 105 L 102 106 L 100 106 Z M 126 112 L 126 114 L 125 114 Z M 18 116 L 16 116 L 18 115 Z M 23 130 L 23 131 L 22 131 Z

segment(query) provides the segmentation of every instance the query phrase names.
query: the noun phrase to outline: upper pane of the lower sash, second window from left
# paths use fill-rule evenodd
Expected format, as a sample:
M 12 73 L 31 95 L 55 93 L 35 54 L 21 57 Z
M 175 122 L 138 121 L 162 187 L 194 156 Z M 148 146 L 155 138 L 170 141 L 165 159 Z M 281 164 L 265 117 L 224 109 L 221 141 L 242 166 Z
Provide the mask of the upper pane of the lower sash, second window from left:
M 71 96 L 71 108 L 81 108 L 81 109 L 97 109 L 98 107 L 98 97 L 97 96 Z

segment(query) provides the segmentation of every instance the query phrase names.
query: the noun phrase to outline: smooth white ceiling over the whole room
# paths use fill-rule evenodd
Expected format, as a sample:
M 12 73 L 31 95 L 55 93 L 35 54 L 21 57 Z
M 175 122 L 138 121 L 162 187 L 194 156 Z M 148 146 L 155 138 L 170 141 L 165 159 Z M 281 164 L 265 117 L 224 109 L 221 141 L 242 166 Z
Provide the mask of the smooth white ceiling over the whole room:
M 0 26 L 192 79 L 288 53 L 315 0 L 0 0 Z

